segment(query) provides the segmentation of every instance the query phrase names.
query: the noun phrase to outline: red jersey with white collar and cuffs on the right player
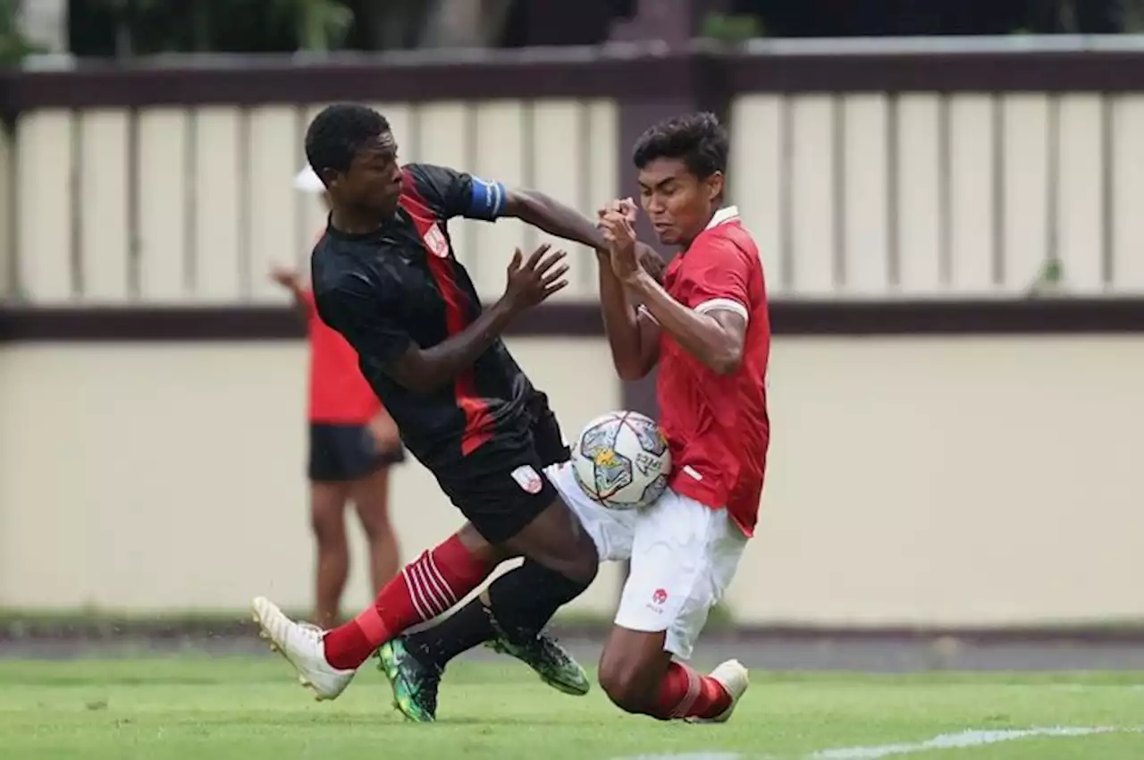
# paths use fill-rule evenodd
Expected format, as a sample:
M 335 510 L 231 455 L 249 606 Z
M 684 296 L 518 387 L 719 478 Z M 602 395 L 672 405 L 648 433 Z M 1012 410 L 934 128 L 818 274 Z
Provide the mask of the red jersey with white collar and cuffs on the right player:
M 672 450 L 670 488 L 709 507 L 725 507 L 752 536 L 770 442 L 771 324 L 758 247 L 738 209 L 723 208 L 712 219 L 668 266 L 664 286 L 696 311 L 725 309 L 747 320 L 742 363 L 730 375 L 706 367 L 664 331 L 656 390 Z

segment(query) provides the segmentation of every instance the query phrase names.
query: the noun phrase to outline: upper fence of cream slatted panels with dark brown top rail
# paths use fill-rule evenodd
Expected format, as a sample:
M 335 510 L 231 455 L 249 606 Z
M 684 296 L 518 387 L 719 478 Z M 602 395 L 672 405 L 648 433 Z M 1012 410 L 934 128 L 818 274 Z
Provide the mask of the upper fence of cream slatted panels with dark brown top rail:
M 0 285 L 45 306 L 277 302 L 265 270 L 304 261 L 321 224 L 291 184 L 305 124 L 357 100 L 405 160 L 586 213 L 635 190 L 628 152 L 650 121 L 718 110 L 731 199 L 779 301 L 1144 293 L 1144 53 L 883 48 L 3 74 Z M 537 240 L 515 223 L 454 237 L 484 294 Z M 591 300 L 594 262 L 573 259 L 563 298 Z

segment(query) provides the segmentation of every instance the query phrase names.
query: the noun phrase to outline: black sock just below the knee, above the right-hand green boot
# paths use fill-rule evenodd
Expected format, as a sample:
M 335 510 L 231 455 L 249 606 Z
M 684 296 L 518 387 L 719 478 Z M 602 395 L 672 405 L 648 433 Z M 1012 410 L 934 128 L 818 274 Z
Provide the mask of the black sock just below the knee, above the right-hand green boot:
M 525 560 L 519 568 L 488 586 L 493 625 L 509 641 L 535 639 L 556 610 L 582 594 L 594 579 L 573 580 L 539 562 Z

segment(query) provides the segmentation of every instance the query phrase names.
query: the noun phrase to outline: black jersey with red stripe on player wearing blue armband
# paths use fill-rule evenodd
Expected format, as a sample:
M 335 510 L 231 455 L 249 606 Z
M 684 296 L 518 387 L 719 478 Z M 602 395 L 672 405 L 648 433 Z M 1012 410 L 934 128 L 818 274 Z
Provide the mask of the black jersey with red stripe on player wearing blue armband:
M 368 235 L 327 224 L 311 258 L 318 315 L 357 350 L 362 373 L 405 445 L 435 473 L 491 442 L 517 449 L 532 438 L 538 448 L 553 440 L 548 430 L 534 435 L 538 426 L 555 425 L 547 398 L 499 339 L 470 370 L 432 394 L 414 393 L 384 370 L 411 346 L 436 346 L 479 316 L 480 300 L 453 253 L 447 222 L 455 216 L 492 222 L 505 203 L 498 182 L 407 164 L 390 223 Z M 561 458 L 558 452 L 541 456 Z

